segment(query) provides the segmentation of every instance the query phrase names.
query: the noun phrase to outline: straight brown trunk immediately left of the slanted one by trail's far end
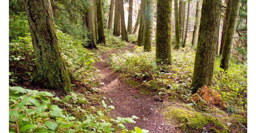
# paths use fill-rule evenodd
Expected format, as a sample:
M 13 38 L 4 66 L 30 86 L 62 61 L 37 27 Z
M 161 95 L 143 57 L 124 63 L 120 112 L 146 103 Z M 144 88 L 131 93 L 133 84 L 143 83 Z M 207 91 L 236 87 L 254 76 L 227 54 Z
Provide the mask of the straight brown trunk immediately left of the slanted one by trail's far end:
M 114 30 L 113 35 L 119 37 L 121 30 L 120 0 L 115 0 Z

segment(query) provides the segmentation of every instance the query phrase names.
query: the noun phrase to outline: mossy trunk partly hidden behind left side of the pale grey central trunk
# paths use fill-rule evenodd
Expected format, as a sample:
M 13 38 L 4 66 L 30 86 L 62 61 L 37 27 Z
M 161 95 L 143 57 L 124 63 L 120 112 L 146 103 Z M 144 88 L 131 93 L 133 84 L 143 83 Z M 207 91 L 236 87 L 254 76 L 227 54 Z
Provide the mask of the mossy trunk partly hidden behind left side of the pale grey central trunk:
M 140 28 L 139 28 L 138 39 L 137 39 L 138 46 L 143 46 L 143 43 L 144 43 L 146 2 L 147 2 L 147 0 L 141 0 Z

